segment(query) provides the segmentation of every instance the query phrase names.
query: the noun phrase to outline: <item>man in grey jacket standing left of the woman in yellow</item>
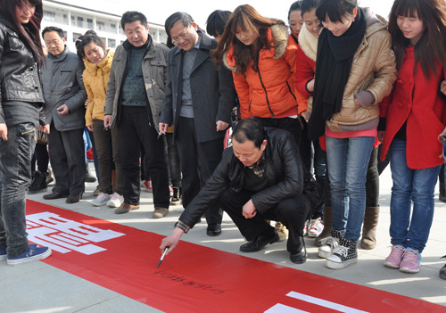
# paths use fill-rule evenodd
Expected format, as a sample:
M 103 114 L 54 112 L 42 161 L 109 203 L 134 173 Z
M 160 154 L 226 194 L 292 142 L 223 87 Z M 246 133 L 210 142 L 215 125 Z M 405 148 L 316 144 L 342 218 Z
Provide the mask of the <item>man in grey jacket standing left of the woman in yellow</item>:
M 48 151 L 56 179 L 53 193 L 44 199 L 67 198 L 67 203 L 75 203 L 84 192 L 86 174 L 84 62 L 70 53 L 62 29 L 47 27 L 42 37 L 48 48 L 42 69 L 45 117 L 50 125 Z

